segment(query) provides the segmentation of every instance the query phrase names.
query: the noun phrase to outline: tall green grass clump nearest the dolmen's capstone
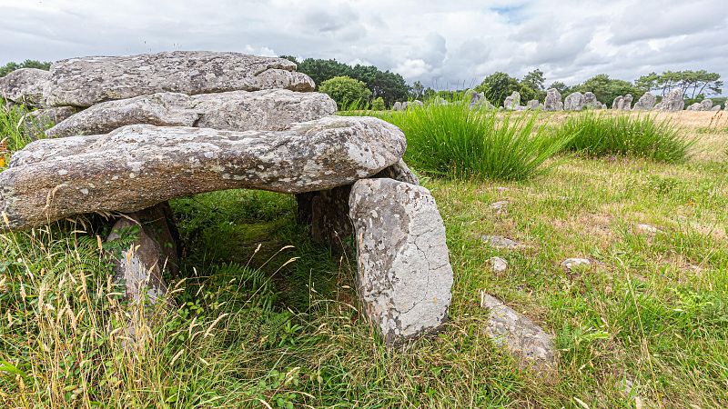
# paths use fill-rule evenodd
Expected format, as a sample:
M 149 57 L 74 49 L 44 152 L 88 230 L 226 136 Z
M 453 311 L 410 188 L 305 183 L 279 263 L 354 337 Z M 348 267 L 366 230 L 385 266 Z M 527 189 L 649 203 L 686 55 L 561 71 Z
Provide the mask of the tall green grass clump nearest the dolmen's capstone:
M 571 136 L 551 136 L 537 114 L 498 114 L 467 104 L 412 106 L 385 119 L 407 136 L 405 159 L 420 172 L 449 178 L 525 180 L 541 175 L 544 162 Z

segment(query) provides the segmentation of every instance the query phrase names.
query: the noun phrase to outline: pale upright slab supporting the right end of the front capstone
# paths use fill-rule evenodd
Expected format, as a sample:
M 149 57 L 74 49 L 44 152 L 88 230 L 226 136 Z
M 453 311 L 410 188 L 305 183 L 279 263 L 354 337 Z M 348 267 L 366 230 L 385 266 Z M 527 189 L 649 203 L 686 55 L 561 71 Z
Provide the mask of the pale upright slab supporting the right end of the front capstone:
M 359 297 L 388 344 L 436 331 L 448 317 L 452 268 L 430 191 L 364 179 L 349 196 Z

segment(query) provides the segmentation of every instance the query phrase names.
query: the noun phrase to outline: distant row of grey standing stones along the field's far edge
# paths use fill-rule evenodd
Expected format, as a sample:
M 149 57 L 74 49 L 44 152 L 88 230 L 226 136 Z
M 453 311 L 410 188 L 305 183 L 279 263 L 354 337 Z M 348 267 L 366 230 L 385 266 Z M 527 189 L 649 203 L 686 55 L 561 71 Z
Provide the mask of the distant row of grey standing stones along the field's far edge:
M 469 91 L 466 95 L 470 95 L 470 108 L 486 108 L 493 109 L 494 106 L 485 99 L 483 93 L 477 93 L 475 91 Z M 677 112 L 682 111 L 685 108 L 685 102 L 682 99 L 682 91 L 672 90 L 668 95 L 662 98 L 662 102 L 657 104 L 657 97 L 651 93 L 644 93 L 640 99 L 632 106 L 632 95 L 620 95 L 614 98 L 612 101 L 612 109 L 620 111 L 666 111 L 666 112 Z M 448 104 L 443 99 L 438 99 L 437 104 Z M 397 102 L 392 106 L 395 111 L 405 111 L 412 105 L 422 106 L 422 102 L 415 100 L 410 103 Z M 503 108 L 511 111 L 525 111 L 541 109 L 544 111 L 581 111 L 583 109 L 607 109 L 607 105 L 597 101 L 596 95 L 591 92 L 581 94 L 580 92 L 571 93 L 561 101 L 561 93 L 556 88 L 549 88 L 546 91 L 546 98 L 543 104 L 537 99 L 532 99 L 527 102 L 526 105 L 521 105 L 521 94 L 518 91 L 513 91 L 510 96 L 507 96 L 503 101 Z M 700 103 L 695 103 L 687 107 L 690 111 L 720 111 L 721 105 L 714 105 L 710 99 L 704 99 Z M 728 104 L 725 105 L 726 111 L 728 111 Z

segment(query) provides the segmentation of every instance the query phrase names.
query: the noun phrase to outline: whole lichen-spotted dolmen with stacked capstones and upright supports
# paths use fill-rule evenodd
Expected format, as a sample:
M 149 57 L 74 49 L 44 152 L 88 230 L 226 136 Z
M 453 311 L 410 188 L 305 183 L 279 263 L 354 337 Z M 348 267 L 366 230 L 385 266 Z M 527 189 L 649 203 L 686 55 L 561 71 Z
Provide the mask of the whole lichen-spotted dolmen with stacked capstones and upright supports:
M 20 71 L 18 73 L 18 71 Z M 452 268 L 435 200 L 402 161 L 407 143 L 336 103 L 281 58 L 177 51 L 56 62 L 0 79 L 6 99 L 71 115 L 0 173 L 3 231 L 113 214 L 140 226 L 115 260 L 131 300 L 164 299 L 177 254 L 167 201 L 225 189 L 296 195 L 315 240 L 355 238 L 364 313 L 389 345 L 447 320 Z

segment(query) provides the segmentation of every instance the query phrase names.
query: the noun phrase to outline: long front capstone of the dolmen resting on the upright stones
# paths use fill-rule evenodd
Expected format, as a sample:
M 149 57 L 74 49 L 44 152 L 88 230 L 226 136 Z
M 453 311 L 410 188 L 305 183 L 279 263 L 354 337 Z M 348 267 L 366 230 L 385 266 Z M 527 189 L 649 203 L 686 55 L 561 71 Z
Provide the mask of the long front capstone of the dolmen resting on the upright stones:
M 0 212 L 19 230 L 216 190 L 327 190 L 398 163 L 405 146 L 399 128 L 371 117 L 327 116 L 268 132 L 129 125 L 25 146 L 0 173 Z

